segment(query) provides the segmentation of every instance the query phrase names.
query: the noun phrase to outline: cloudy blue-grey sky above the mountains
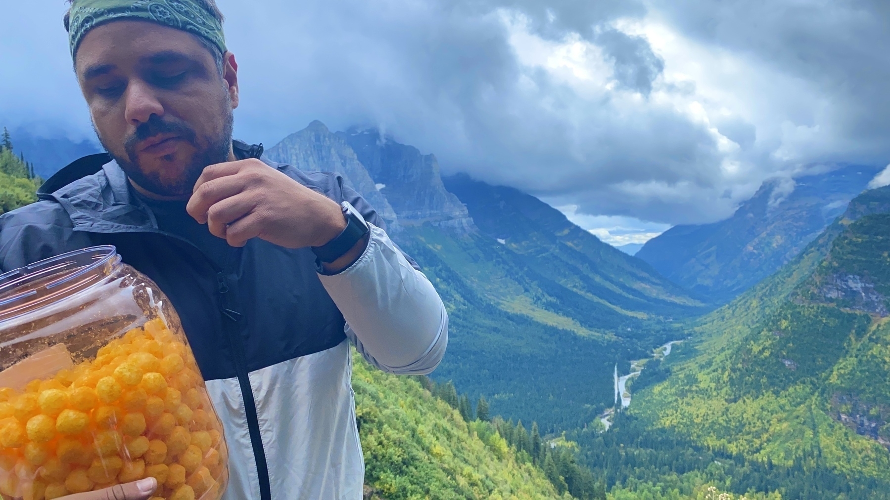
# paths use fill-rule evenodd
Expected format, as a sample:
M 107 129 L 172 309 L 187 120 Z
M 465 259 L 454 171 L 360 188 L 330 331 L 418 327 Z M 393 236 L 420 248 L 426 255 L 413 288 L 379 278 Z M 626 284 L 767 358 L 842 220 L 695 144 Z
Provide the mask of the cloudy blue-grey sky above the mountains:
M 240 139 L 378 127 L 615 244 L 726 218 L 765 179 L 890 163 L 886 0 L 218 4 Z M 4 5 L 0 120 L 81 139 L 64 10 Z

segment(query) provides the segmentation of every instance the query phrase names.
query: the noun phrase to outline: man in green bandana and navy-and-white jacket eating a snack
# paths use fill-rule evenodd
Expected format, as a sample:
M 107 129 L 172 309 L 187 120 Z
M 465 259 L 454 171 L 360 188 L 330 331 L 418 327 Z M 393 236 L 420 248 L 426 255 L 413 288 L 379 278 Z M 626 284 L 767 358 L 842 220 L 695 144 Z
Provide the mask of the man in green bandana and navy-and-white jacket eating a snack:
M 357 500 L 346 340 L 380 369 L 425 374 L 448 315 L 342 178 L 232 141 L 238 64 L 222 20 L 213 0 L 74 0 L 77 82 L 109 155 L 70 164 L 0 218 L 0 266 L 116 245 L 182 316 L 223 419 L 224 497 Z

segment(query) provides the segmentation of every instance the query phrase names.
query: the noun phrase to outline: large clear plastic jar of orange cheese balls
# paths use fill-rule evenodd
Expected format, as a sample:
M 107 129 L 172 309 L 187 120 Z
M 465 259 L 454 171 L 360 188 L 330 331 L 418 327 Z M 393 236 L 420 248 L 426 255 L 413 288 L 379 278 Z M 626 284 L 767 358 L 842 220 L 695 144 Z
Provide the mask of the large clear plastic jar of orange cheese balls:
M 179 317 L 112 246 L 0 275 L 0 494 L 39 500 L 158 479 L 218 500 L 229 472 Z

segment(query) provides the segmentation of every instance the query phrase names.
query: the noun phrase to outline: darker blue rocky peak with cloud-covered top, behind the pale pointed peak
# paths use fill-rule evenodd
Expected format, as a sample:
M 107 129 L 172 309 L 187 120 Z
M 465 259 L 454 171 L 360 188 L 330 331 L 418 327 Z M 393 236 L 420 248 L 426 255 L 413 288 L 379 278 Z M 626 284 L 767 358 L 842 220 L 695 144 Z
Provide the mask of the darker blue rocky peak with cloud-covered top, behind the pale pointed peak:
M 368 169 L 403 226 L 450 227 L 473 231 L 473 219 L 457 196 L 442 184 L 439 163 L 433 155 L 421 155 L 417 147 L 382 137 L 376 130 L 351 128 L 336 136 L 352 147 Z

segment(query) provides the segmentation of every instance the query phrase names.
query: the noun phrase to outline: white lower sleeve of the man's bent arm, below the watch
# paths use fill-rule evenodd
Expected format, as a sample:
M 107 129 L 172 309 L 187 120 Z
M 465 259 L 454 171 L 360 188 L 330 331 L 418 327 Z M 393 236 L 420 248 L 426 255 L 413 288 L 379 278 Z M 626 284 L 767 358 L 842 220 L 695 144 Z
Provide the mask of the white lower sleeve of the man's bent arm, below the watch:
M 346 319 L 345 333 L 368 362 L 403 375 L 425 375 L 448 345 L 448 313 L 433 283 L 379 227 L 352 266 L 319 279 Z

